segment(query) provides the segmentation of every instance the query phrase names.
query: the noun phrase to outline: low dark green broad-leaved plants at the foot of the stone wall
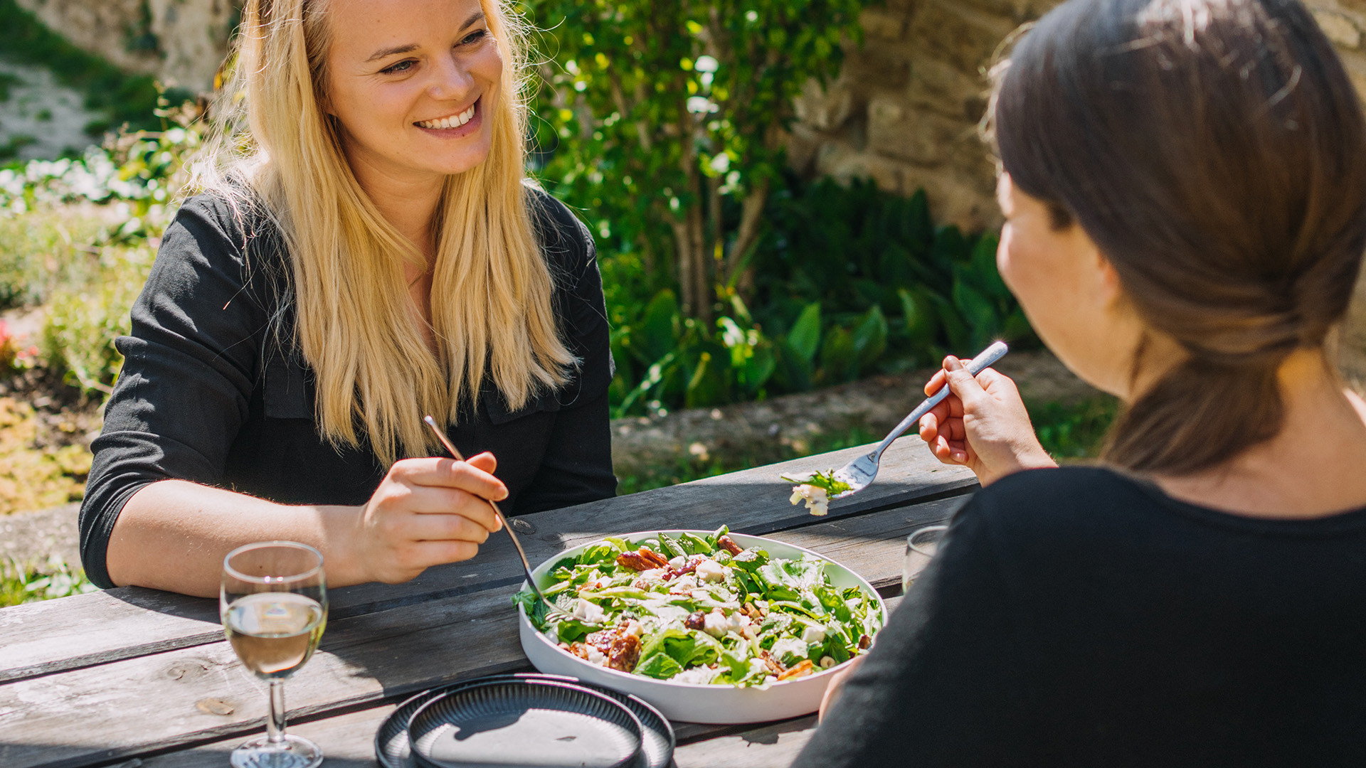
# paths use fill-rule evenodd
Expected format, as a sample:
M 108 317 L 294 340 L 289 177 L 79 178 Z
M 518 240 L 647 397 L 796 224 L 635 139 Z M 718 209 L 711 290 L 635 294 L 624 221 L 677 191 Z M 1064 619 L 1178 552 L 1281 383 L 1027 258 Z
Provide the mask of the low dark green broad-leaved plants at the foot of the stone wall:
M 996 272 L 996 238 L 936 228 L 923 193 L 788 179 L 765 220 L 751 303 L 728 290 L 714 327 L 687 317 L 669 288 L 632 297 L 649 284 L 638 261 L 604 256 L 609 282 L 626 276 L 608 292 L 615 414 L 803 392 L 994 339 L 1037 343 Z

